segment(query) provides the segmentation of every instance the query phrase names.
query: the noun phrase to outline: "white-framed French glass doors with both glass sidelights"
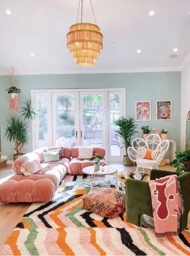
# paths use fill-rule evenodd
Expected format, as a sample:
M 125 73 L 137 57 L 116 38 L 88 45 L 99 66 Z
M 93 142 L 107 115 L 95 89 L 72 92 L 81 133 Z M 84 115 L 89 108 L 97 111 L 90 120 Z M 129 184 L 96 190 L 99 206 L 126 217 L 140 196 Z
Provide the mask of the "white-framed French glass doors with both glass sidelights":
M 33 149 L 104 147 L 107 162 L 122 162 L 122 140 L 114 121 L 125 116 L 123 90 L 36 90 L 32 98 L 38 114 Z

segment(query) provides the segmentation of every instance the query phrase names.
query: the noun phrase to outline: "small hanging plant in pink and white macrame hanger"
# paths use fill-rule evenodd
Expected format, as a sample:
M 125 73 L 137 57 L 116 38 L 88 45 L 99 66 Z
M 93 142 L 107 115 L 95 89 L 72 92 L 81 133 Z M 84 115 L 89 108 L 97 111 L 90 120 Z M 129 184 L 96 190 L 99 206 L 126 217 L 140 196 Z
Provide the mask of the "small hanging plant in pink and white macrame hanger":
M 9 108 L 10 110 L 17 110 L 19 109 L 19 102 L 18 102 L 18 93 L 21 93 L 20 89 L 16 88 L 15 85 L 15 78 L 14 78 L 14 68 L 12 71 L 12 86 L 8 88 L 6 91 L 8 91 L 9 96 Z

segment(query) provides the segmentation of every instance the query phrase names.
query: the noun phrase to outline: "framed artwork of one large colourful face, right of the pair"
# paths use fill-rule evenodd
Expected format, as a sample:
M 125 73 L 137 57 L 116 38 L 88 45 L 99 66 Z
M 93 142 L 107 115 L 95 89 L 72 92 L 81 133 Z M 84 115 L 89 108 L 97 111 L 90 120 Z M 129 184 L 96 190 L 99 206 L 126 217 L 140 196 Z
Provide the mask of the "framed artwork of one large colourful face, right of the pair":
M 171 120 L 171 101 L 156 101 L 156 120 Z

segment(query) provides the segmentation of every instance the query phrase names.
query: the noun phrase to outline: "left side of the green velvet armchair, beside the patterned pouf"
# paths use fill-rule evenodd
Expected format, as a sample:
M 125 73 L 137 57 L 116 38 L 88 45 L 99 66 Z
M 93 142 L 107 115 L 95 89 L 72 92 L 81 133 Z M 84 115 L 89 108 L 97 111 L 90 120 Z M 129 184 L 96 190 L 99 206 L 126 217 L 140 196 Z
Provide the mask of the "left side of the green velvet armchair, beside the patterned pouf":
M 149 184 L 147 181 L 126 179 L 126 220 L 140 226 L 142 214 L 153 216 Z

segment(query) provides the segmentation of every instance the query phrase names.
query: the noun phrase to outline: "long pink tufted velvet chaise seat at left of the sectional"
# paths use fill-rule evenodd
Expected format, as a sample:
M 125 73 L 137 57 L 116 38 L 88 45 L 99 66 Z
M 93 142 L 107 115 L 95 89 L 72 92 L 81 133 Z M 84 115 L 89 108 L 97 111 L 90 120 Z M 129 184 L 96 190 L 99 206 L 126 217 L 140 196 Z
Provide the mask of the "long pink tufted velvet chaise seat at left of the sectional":
M 54 197 L 66 174 L 63 165 L 47 165 L 46 172 L 38 171 L 26 177 L 13 175 L 0 185 L 0 202 L 48 202 Z

